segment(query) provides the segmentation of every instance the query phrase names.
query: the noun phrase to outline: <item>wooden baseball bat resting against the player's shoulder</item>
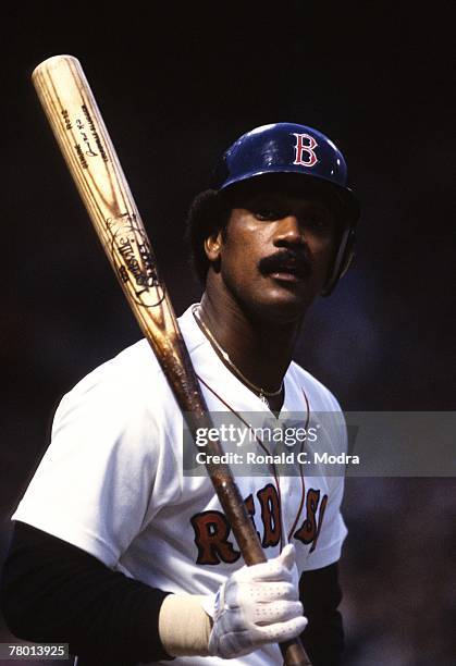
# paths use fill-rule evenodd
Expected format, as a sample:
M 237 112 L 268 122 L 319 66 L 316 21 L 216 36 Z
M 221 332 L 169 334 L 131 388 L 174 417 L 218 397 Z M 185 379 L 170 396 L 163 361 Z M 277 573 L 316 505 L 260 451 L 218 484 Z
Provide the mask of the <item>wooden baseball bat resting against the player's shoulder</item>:
M 151 244 L 81 63 L 72 55 L 56 55 L 41 62 L 32 78 L 101 245 L 192 434 L 211 427 Z M 207 449 L 223 453 L 219 442 Z M 266 562 L 230 468 L 209 464 L 207 470 L 244 560 Z M 287 666 L 310 665 L 298 639 L 281 650 Z

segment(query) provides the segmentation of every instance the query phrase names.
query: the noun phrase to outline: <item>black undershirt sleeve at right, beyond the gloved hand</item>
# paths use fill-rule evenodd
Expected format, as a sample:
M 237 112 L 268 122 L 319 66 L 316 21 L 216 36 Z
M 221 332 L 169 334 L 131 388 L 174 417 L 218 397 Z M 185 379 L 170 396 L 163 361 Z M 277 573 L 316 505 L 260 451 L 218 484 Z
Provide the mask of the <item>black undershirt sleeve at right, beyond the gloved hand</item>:
M 301 633 L 312 666 L 340 666 L 344 650 L 344 628 L 337 606 L 342 601 L 337 563 L 304 571 L 299 581 L 304 615 L 309 620 Z

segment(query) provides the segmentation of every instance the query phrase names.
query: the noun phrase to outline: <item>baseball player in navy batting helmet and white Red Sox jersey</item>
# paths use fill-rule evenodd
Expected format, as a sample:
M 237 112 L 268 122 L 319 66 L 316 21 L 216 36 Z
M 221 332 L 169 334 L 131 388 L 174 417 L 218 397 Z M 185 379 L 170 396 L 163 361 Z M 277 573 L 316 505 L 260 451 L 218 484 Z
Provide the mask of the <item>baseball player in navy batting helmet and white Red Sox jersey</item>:
M 307 425 L 326 412 L 345 452 L 336 399 L 292 355 L 350 262 L 357 218 L 342 153 L 311 127 L 257 127 L 224 152 L 188 214 L 205 291 L 180 318 L 211 411 Z M 12 517 L 11 631 L 70 643 L 79 666 L 272 666 L 297 636 L 313 666 L 340 664 L 343 477 L 270 465 L 237 483 L 264 564 L 243 564 L 211 482 L 183 473 L 183 416 L 150 347 L 124 349 L 63 397 Z

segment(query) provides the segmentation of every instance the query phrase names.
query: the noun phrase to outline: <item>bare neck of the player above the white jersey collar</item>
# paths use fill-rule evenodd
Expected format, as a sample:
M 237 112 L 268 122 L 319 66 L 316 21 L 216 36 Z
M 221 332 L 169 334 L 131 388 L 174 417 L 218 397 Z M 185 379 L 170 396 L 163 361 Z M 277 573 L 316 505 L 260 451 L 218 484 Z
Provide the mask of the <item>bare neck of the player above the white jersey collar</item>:
M 261 321 L 248 316 L 233 298 L 213 298 L 209 292 L 202 295 L 199 317 L 249 382 L 266 392 L 280 388 L 300 322 Z

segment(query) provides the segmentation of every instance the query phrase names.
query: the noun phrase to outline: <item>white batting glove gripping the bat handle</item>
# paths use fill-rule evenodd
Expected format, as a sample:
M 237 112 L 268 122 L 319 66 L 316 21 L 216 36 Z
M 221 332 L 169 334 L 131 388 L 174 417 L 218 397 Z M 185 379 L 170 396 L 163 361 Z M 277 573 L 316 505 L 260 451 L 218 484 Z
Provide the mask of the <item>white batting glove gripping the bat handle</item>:
M 235 571 L 220 587 L 212 608 L 205 607 L 213 617 L 209 654 L 230 659 L 304 631 L 296 575 L 292 544 L 274 559 Z

